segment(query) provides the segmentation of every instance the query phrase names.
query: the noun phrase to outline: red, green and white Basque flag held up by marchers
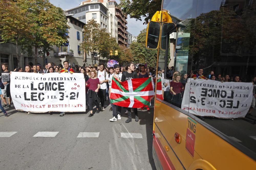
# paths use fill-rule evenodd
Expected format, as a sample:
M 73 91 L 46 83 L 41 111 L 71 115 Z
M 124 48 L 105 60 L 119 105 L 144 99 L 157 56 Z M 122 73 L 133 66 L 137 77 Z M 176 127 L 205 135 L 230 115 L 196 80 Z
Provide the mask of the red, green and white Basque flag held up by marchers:
M 155 95 L 151 78 L 130 79 L 119 82 L 112 78 L 111 103 L 129 108 L 150 106 L 150 98 Z

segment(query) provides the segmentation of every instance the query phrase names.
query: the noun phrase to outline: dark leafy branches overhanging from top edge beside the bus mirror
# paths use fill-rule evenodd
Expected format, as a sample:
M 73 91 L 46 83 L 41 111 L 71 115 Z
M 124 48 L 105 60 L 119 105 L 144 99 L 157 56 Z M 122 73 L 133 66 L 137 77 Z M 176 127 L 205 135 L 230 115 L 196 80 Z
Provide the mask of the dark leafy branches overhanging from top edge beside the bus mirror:
M 145 17 L 144 23 L 148 23 L 156 11 L 161 10 L 162 0 L 120 0 L 119 6 L 125 14 L 130 15 L 131 18 L 142 20 Z

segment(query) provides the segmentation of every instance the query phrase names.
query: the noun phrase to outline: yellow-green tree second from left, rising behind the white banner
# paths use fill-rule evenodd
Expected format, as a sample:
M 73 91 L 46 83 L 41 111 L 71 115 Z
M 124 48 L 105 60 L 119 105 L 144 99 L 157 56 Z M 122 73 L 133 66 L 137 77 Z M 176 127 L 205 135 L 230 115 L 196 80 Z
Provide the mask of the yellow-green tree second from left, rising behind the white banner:
M 52 46 L 61 46 L 68 41 L 69 26 L 61 8 L 48 0 L 17 0 L 17 4 L 28 12 L 28 18 L 34 23 L 31 28 L 33 39 L 27 42 L 27 48 L 35 47 L 35 63 L 38 48 L 43 48 L 45 53 Z

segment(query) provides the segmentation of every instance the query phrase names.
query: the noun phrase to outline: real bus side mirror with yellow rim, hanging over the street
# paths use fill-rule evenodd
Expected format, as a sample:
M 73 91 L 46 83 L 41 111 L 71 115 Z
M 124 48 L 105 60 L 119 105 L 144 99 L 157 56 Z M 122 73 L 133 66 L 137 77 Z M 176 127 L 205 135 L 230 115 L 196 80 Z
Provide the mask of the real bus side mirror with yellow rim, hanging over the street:
M 146 48 L 157 49 L 160 39 L 160 22 L 150 21 L 147 26 Z

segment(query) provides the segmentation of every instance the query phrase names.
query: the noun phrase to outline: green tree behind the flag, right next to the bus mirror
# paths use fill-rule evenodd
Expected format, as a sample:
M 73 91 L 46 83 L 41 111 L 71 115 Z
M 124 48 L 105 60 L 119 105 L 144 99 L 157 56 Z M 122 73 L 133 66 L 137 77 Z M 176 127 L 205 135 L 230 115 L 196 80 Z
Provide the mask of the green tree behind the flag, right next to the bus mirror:
M 137 36 L 137 42 L 132 42 L 131 53 L 135 63 L 147 63 L 148 66 L 155 67 L 157 59 L 157 50 L 150 50 L 146 48 L 146 33 L 143 29 Z

